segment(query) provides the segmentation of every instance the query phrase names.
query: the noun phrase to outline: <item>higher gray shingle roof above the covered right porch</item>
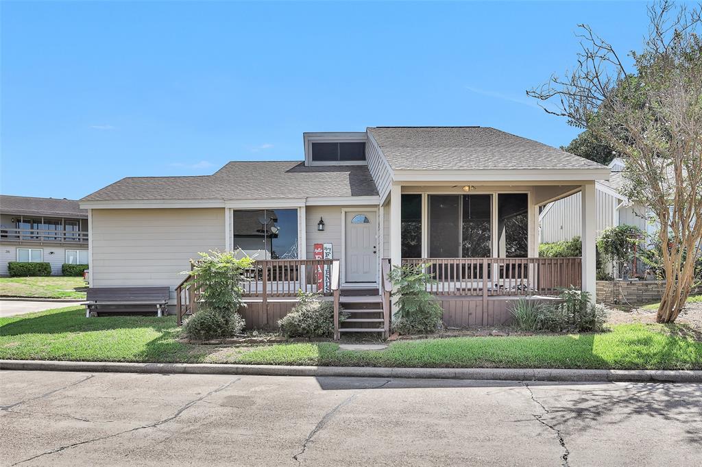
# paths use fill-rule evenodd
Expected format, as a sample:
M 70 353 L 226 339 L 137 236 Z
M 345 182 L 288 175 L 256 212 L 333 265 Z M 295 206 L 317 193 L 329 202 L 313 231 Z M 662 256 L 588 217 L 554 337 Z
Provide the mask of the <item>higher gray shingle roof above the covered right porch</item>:
M 371 127 L 393 170 L 606 168 L 489 127 Z

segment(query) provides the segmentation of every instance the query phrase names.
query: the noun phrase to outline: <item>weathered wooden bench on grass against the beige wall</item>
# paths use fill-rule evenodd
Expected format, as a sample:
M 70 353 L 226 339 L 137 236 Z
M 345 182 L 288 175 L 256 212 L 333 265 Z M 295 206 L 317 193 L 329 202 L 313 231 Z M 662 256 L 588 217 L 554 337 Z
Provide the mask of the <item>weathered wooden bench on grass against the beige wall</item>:
M 156 316 L 168 312 L 170 289 L 164 287 L 90 287 L 86 306 L 86 318 L 91 313 L 144 313 L 156 307 Z

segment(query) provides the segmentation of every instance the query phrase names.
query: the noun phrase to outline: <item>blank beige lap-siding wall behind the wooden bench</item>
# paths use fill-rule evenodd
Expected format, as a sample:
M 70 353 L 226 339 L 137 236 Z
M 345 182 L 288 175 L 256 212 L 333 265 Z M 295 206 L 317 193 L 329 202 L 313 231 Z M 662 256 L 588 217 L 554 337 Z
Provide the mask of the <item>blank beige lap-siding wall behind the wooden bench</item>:
M 93 209 L 91 286 L 168 285 L 198 252 L 225 249 L 224 209 Z

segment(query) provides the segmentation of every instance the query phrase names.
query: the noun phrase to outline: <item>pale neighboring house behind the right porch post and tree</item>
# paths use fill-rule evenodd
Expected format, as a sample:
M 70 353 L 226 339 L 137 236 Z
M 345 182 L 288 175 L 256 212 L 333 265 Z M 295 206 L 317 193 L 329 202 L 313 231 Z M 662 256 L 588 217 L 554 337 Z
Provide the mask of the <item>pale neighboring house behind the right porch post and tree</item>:
M 623 224 L 636 226 L 649 236 L 655 234 L 658 226 L 649 222 L 651 216 L 647 208 L 631 202 L 622 194 L 626 183 L 624 161 L 614 158 L 609 163 L 609 169 L 609 180 L 598 180 L 595 183 L 596 236 L 600 236 L 607 227 Z M 580 196 L 580 193 L 572 194 L 543 208 L 538 216 L 541 243 L 566 241 L 581 235 Z M 637 261 L 636 266 L 636 273 L 643 274 L 645 264 Z

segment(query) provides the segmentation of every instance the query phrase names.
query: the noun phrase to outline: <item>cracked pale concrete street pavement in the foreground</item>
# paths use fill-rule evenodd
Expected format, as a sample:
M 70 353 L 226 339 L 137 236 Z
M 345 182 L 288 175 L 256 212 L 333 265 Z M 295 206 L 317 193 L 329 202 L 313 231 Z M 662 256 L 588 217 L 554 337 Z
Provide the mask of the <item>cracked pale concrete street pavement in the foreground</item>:
M 695 465 L 702 385 L 0 372 L 3 465 Z

